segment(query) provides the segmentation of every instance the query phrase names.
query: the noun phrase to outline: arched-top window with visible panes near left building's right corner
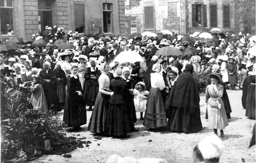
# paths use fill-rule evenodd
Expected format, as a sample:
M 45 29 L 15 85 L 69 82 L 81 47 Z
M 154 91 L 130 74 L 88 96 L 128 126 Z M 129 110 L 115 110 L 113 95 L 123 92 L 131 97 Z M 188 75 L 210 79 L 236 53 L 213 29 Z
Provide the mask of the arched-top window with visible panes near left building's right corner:
M 112 3 L 103 3 L 103 32 L 112 32 Z

